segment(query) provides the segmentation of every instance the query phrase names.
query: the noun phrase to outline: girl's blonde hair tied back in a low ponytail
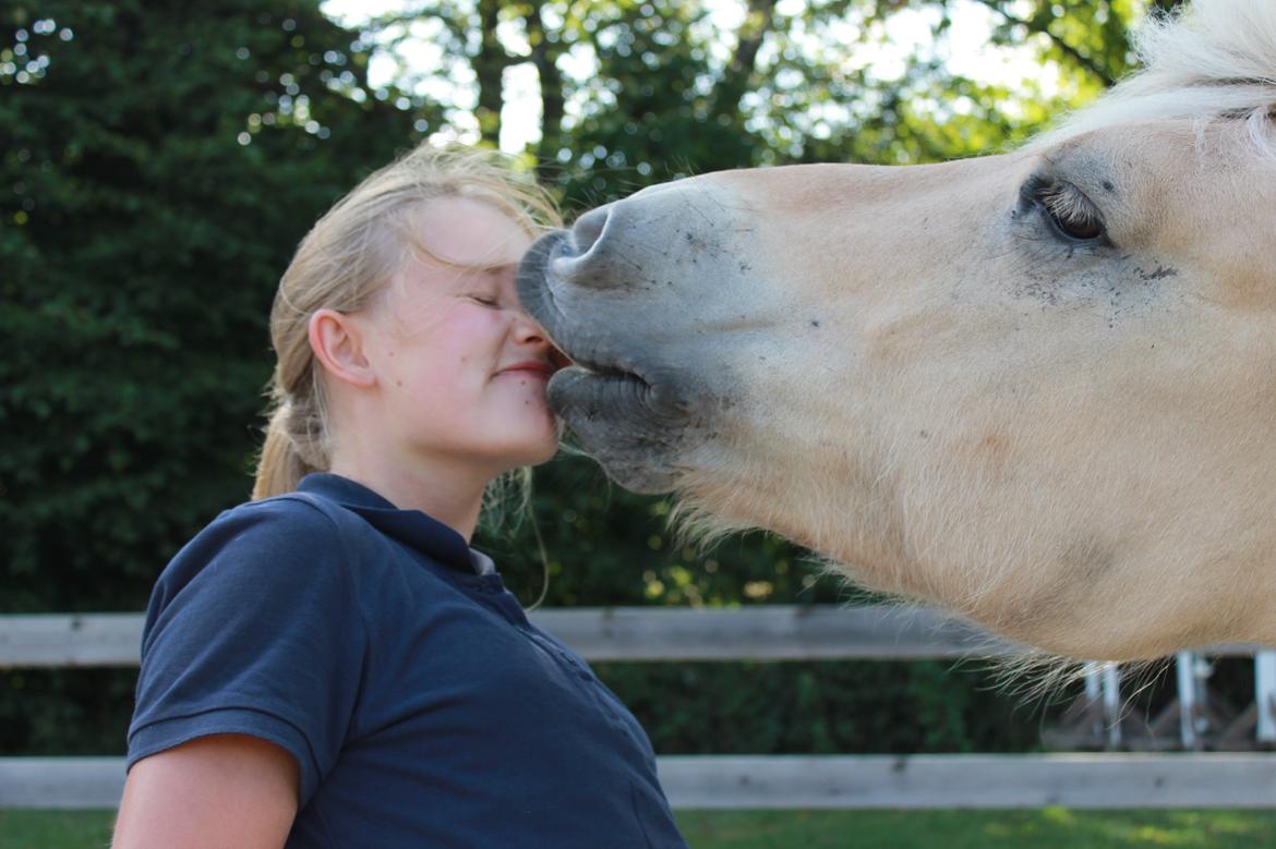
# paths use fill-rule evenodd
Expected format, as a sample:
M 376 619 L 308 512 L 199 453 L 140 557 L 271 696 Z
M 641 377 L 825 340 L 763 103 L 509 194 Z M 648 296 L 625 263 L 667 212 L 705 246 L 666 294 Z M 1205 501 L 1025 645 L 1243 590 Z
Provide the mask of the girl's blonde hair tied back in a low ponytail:
M 253 498 L 292 492 L 330 467 L 323 380 L 310 351 L 316 310 L 355 312 L 426 251 L 416 210 L 438 198 L 490 204 L 528 235 L 560 224 L 549 194 L 499 154 L 421 145 L 374 172 L 320 218 L 297 246 L 271 310 L 276 366 L 269 424 Z

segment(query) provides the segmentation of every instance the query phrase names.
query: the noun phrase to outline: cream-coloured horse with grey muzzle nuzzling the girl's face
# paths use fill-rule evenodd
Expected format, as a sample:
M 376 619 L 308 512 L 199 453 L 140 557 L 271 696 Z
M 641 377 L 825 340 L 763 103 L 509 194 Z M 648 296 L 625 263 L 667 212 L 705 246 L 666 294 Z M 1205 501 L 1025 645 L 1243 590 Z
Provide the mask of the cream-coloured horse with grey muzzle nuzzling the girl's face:
M 1276 644 L 1276 3 L 1026 149 L 642 191 L 538 242 L 555 408 L 856 581 L 1086 658 Z

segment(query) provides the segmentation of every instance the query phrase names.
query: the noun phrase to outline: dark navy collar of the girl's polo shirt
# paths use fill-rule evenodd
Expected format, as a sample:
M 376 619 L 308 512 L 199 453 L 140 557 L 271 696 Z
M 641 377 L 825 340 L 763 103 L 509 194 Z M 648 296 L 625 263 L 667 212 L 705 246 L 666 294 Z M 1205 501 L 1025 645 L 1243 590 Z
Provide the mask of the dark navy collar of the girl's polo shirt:
M 420 510 L 399 510 L 362 483 L 330 472 L 315 472 L 301 478 L 299 492 L 334 501 L 362 516 L 383 534 L 420 551 L 443 566 L 475 574 L 470 546 L 454 529 Z

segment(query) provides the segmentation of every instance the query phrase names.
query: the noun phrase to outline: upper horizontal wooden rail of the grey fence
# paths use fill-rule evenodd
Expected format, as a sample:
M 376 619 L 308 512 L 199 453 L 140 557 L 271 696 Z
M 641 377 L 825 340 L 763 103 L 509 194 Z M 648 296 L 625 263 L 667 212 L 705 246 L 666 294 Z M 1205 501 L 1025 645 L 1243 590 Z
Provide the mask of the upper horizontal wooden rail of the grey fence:
M 915 607 L 596 607 L 542 609 L 531 618 L 593 662 L 916 660 L 1022 651 Z M 0 616 L 0 668 L 137 665 L 140 641 L 137 613 Z M 1247 655 L 1254 646 L 1205 651 Z

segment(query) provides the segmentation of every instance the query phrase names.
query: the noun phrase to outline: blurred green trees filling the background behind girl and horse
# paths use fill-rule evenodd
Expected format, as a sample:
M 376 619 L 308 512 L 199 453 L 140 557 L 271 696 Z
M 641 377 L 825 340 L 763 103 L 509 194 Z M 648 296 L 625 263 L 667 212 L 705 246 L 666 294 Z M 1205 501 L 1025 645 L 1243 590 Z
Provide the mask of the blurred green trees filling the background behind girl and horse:
M 1111 84 L 1147 5 L 0 0 L 0 612 L 140 611 L 248 496 L 278 275 L 396 152 L 500 144 L 569 214 L 720 168 L 970 156 Z M 480 546 L 528 603 L 546 572 L 549 606 L 857 598 L 767 534 L 685 548 L 670 507 L 565 456 Z M 604 674 L 661 751 L 1034 744 L 1031 711 L 940 671 Z M 133 676 L 0 673 L 0 752 L 121 751 Z

